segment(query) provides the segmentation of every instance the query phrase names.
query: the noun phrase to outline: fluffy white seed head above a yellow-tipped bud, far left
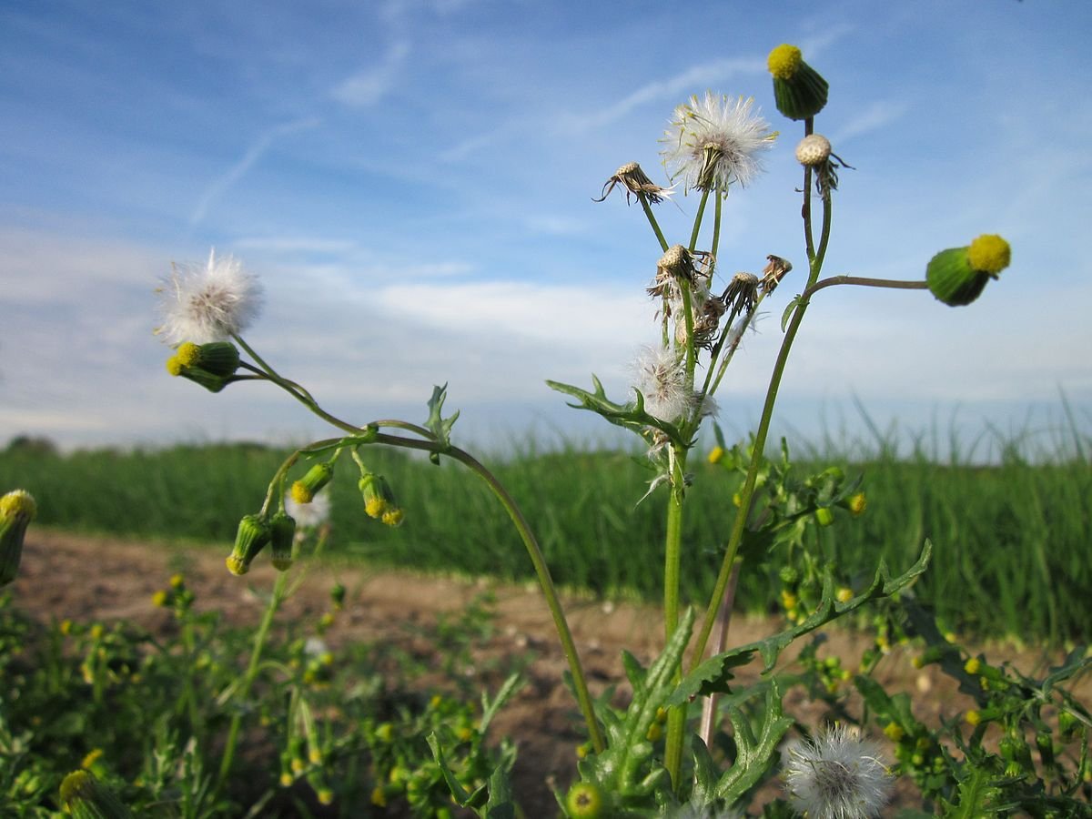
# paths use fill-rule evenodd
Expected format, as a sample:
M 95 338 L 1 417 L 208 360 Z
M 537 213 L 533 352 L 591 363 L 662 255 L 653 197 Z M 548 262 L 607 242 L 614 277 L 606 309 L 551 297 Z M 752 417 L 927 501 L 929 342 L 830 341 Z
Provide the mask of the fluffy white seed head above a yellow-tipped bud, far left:
M 155 332 L 168 344 L 226 341 L 250 327 L 262 301 L 258 278 L 215 250 L 203 265 L 175 266 L 157 292 L 163 324 Z

